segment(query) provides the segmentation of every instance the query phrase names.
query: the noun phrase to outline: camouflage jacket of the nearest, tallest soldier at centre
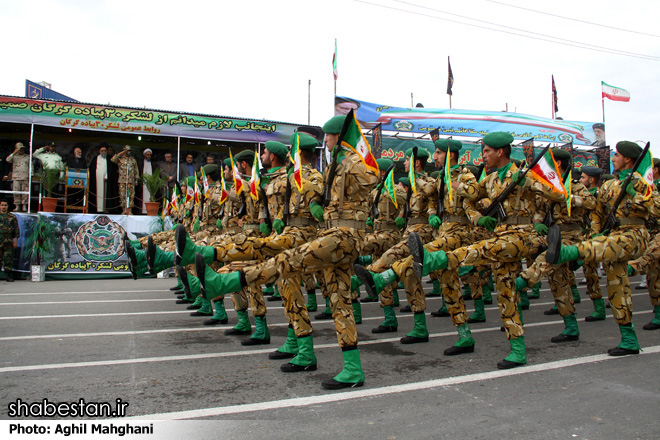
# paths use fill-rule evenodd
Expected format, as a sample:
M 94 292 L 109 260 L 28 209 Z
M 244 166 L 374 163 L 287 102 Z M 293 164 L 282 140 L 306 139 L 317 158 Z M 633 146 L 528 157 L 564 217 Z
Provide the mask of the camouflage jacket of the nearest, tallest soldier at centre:
M 337 165 L 323 219 L 366 221 L 369 217 L 369 192 L 378 184 L 378 173 L 368 169 L 353 151 L 345 148 L 344 151 L 345 157 Z M 329 170 L 330 167 L 327 167 L 323 173 L 324 187 L 327 186 Z

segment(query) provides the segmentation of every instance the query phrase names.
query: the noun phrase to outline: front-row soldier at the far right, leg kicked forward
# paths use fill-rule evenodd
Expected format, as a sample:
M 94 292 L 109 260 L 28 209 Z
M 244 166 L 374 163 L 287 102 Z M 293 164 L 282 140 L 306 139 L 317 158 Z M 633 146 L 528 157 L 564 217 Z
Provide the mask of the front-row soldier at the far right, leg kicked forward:
M 632 172 L 633 165 L 642 154 L 642 148 L 634 142 L 621 141 L 616 145 L 612 158 L 614 169 L 619 171 L 618 180 L 603 184 L 598 193 L 598 211 L 601 213 L 594 229 L 601 230 L 606 215 L 614 209 L 613 204 L 621 191 L 625 191 L 623 202 L 616 211 L 617 224 L 612 230 L 596 234 L 591 240 L 574 246 L 561 243 L 559 228 L 551 228 L 548 234 L 546 259 L 551 264 L 583 260 L 587 263 L 603 262 L 607 273 L 607 294 L 612 314 L 619 325 L 621 343 L 608 350 L 611 356 L 639 353 L 639 342 L 632 322 L 632 294 L 628 279 L 628 261 L 644 255 L 649 242 L 646 221 L 649 215 L 660 214 L 660 198 L 655 188 L 650 188 L 638 175 L 623 187 L 622 182 Z M 607 225 L 610 226 L 610 225 Z

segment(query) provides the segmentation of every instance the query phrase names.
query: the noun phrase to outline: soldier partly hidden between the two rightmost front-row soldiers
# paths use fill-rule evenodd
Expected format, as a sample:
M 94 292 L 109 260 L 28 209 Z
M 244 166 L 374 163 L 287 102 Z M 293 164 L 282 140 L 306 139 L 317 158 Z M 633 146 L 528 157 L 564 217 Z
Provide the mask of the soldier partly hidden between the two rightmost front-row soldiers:
M 557 161 L 559 174 L 570 179 L 571 153 L 555 148 L 552 151 Z M 548 200 L 546 210 L 550 210 L 554 225 L 559 226 L 562 231 L 563 243 L 567 245 L 576 244 L 582 241 L 582 222 L 587 210 L 593 211 L 596 208 L 596 198 L 589 193 L 587 188 L 581 183 L 572 184 L 569 188 L 571 211 L 568 212 L 567 198 L 556 189 L 550 189 L 546 185 L 532 179 L 525 179 L 525 186 L 536 187 L 536 192 L 541 193 L 541 197 Z M 542 211 L 535 215 L 534 229 L 540 236 L 548 233 L 548 225 L 544 223 Z M 532 286 L 541 281 L 546 276 L 550 284 L 550 291 L 555 299 L 555 304 L 559 314 L 564 320 L 565 328 L 561 334 L 553 336 L 550 342 L 560 343 L 577 341 L 580 338 L 580 331 L 577 325 L 575 314 L 575 304 L 571 292 L 571 269 L 568 264 L 553 266 L 545 261 L 545 253 L 539 255 L 534 264 L 530 265 L 515 281 L 516 289 L 522 291 L 528 286 Z

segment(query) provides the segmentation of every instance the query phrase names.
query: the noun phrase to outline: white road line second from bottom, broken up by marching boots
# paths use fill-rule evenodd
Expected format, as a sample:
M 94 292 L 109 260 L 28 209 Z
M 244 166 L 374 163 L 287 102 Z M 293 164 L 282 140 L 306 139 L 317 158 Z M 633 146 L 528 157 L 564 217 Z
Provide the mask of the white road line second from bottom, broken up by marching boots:
M 651 312 L 647 312 L 651 313 Z M 329 321 L 332 322 L 332 321 Z M 546 322 L 534 322 L 525 324 L 526 328 L 529 327 L 544 327 L 548 325 L 558 325 L 563 324 L 561 320 L 556 321 L 546 321 Z M 480 329 L 471 329 L 472 333 L 486 333 L 486 332 L 499 332 L 500 326 L 480 328 Z M 429 335 L 430 338 L 440 338 L 446 336 L 456 336 L 455 331 L 441 332 L 441 333 L 432 333 Z M 359 345 L 375 345 L 383 344 L 388 342 L 399 342 L 401 339 L 400 336 L 394 338 L 383 338 L 383 339 L 374 339 L 368 341 L 360 341 Z M 318 344 L 314 345 L 314 348 L 336 348 L 337 343 L 328 343 L 328 344 Z M 176 355 L 176 356 L 158 356 L 158 357 L 149 357 L 149 358 L 133 358 L 133 359 L 115 359 L 115 360 L 106 360 L 106 361 L 88 361 L 88 362 L 68 362 L 68 363 L 59 363 L 59 364 L 42 364 L 42 365 L 23 365 L 15 367 L 3 367 L 0 368 L 0 374 L 2 373 L 13 373 L 13 372 L 24 372 L 24 371 L 41 371 L 41 370 L 57 370 L 60 368 L 88 368 L 88 367 L 105 367 L 110 365 L 126 365 L 126 364 L 144 364 L 152 362 L 172 362 L 172 361 L 188 361 L 193 359 L 211 359 L 211 358 L 223 358 L 223 357 L 235 357 L 235 356 L 250 356 L 255 354 L 263 354 L 272 352 L 272 348 L 266 348 L 261 350 L 242 350 L 242 351 L 231 351 L 231 352 L 221 352 L 221 353 L 204 353 L 204 354 L 189 354 L 189 355 Z

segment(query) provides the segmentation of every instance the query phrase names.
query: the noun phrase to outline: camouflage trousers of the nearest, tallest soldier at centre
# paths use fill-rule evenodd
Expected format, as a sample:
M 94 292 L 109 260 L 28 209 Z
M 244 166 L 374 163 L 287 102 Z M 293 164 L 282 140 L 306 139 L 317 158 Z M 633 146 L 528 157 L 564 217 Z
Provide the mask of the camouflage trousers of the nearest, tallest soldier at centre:
M 357 328 L 351 306 L 351 275 L 363 240 L 364 232 L 361 230 L 343 227 L 326 229 L 320 231 L 314 241 L 245 268 L 245 279 L 248 285 L 269 284 L 280 277 L 289 279 L 322 270 L 339 346 L 353 347 L 357 345 Z

